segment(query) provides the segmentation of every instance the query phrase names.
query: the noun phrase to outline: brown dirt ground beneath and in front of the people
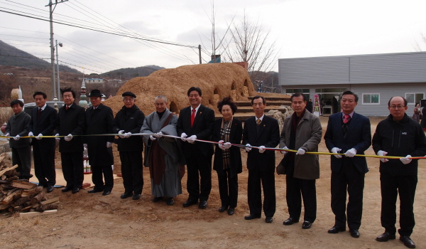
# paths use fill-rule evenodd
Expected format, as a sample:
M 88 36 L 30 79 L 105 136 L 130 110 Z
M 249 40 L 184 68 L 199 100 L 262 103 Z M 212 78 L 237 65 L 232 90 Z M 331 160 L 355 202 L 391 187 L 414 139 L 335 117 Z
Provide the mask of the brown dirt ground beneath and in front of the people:
M 371 119 L 371 130 L 381 118 Z M 322 127 L 327 117 L 321 117 Z M 324 140 L 320 152 L 327 152 Z M 244 162 L 246 155 L 243 154 Z M 373 154 L 368 149 L 366 154 Z M 277 164 L 283 156 L 276 154 Z M 116 164 L 119 158 L 116 158 Z M 59 160 L 58 160 L 59 161 Z M 174 206 L 165 202 L 151 202 L 148 169 L 144 170 L 145 187 L 138 201 L 121 200 L 124 192 L 122 179 L 114 181 L 112 194 L 63 194 L 55 189 L 49 198 L 58 196 L 60 208 L 53 215 L 19 218 L 0 215 L 1 248 L 405 248 L 398 238 L 386 243 L 374 239 L 383 233 L 380 223 L 381 195 L 378 159 L 367 158 L 370 171 L 366 174 L 364 215 L 361 237 L 352 238 L 349 232 L 329 234 L 334 225 L 330 208 L 329 156 L 320 156 L 321 177 L 317 180 L 317 220 L 308 230 L 301 223 L 283 226 L 288 218 L 285 202 L 285 176 L 276 176 L 277 211 L 273 223 L 261 219 L 245 221 L 247 204 L 247 169 L 239 174 L 239 203 L 233 216 L 219 213 L 217 175 L 212 171 L 212 194 L 209 206 L 183 208 L 187 199 L 186 176 L 182 179 L 184 194 L 175 198 Z M 57 162 L 58 163 L 58 162 Z M 119 170 L 115 167 L 115 173 Z M 426 160 L 420 160 L 415 218 L 417 225 L 411 238 L 417 248 L 426 248 Z M 397 211 L 399 208 L 397 207 Z M 399 211 L 398 211 L 399 212 Z M 398 227 L 398 226 L 397 226 Z

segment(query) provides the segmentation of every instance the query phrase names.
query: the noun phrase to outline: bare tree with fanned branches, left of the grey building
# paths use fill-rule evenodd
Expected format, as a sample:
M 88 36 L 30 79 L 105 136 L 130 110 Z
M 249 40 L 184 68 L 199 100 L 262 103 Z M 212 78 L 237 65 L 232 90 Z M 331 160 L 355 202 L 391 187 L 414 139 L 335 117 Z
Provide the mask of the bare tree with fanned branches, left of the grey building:
M 225 50 L 229 62 L 246 62 L 249 64 L 251 81 L 265 80 L 266 72 L 276 63 L 275 41 L 268 43 L 270 31 L 265 31 L 258 21 L 249 21 L 246 12 L 240 23 L 230 30 L 231 47 Z

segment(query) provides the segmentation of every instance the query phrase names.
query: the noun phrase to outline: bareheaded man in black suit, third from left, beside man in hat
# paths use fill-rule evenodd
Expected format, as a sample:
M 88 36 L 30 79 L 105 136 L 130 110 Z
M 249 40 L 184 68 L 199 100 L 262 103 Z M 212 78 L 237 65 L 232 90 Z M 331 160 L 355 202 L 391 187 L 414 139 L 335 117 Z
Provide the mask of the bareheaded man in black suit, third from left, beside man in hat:
M 82 188 L 83 173 L 83 139 L 80 136 L 84 131 L 84 108 L 75 104 L 75 92 L 71 88 L 60 90 L 65 105 L 59 108 L 56 136 L 59 141 L 59 152 L 67 186 L 62 192 L 77 193 Z M 73 137 L 76 136 L 77 137 Z

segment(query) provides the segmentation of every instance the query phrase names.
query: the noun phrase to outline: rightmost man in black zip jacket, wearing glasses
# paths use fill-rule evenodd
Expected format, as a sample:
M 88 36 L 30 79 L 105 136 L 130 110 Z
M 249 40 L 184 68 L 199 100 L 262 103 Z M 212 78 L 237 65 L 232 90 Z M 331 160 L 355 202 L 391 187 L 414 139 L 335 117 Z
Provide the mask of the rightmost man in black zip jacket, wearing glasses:
M 378 123 L 373 135 L 373 149 L 378 156 L 400 157 L 380 159 L 381 225 L 385 233 L 377 241 L 395 239 L 396 198 L 400 196 L 400 240 L 408 248 L 415 248 L 410 235 L 415 225 L 413 204 L 417 186 L 417 159 L 426 154 L 426 138 L 422 127 L 405 114 L 407 100 L 392 97 L 388 102 L 391 115 Z

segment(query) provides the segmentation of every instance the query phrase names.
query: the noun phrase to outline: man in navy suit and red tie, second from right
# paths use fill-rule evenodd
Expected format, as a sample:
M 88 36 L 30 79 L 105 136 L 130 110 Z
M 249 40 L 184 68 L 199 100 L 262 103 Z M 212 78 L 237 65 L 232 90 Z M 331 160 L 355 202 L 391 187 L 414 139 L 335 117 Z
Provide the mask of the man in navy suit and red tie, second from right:
M 346 230 L 346 216 L 349 232 L 359 238 L 361 226 L 364 176 L 368 172 L 364 154 L 371 145 L 370 120 L 354 112 L 358 104 L 358 95 L 343 92 L 340 106 L 342 112 L 329 117 L 324 139 L 327 149 L 332 153 L 344 153 L 331 156 L 332 164 L 332 211 L 335 216 L 334 226 L 328 232 L 339 233 Z M 346 189 L 349 202 L 346 210 Z

